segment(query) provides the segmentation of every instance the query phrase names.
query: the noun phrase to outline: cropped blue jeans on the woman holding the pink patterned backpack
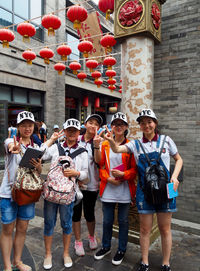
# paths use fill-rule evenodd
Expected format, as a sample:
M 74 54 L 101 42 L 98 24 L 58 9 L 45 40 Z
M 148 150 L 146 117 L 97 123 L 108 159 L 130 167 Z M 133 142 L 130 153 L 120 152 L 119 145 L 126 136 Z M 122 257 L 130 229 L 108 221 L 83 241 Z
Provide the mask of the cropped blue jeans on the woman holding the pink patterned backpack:
M 69 205 L 62 205 L 44 200 L 44 235 L 53 235 L 58 210 L 63 233 L 70 234 L 72 232 L 73 207 L 73 202 Z

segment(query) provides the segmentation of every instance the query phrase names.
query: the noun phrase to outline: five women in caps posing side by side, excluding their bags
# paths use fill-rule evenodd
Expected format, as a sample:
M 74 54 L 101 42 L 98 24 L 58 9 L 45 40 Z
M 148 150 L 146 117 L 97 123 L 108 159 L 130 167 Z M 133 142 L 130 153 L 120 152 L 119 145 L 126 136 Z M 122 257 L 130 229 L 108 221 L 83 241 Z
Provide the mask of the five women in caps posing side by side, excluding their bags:
M 158 132 L 158 120 L 151 109 L 142 110 L 137 122 L 143 133 L 139 143 L 145 152 L 157 157 L 164 140 Z M 63 261 L 65 267 L 72 266 L 69 254 L 71 234 L 74 232 L 74 249 L 78 256 L 84 256 L 84 246 L 81 238 L 82 210 L 88 228 L 88 244 L 91 250 L 98 248 L 95 236 L 95 204 L 98 195 L 102 201 L 103 233 L 102 245 L 94 254 L 96 260 L 101 260 L 111 252 L 112 228 L 116 205 L 118 206 L 119 241 L 118 249 L 112 259 L 114 265 L 119 265 L 124 259 L 128 242 L 128 214 L 130 204 L 136 198 L 140 216 L 140 245 L 142 261 L 138 271 L 148 271 L 148 251 L 150 232 L 153 223 L 153 214 L 157 214 L 158 227 L 161 234 L 163 262 L 162 271 L 171 271 L 170 252 L 172 246 L 171 216 L 176 211 L 176 199 L 163 204 L 149 204 L 144 196 L 142 187 L 136 184 L 137 174 L 144 183 L 144 167 L 141 166 L 145 157 L 142 148 L 138 148 L 135 140 L 129 141 L 128 121 L 125 114 L 117 112 L 112 116 L 111 130 L 99 129 L 103 124 L 100 115 L 89 115 L 84 123 L 84 133 L 80 135 L 81 125 L 76 119 L 68 119 L 63 124 L 63 130 L 54 131 L 49 140 L 39 147 L 33 142 L 35 119 L 31 112 L 21 112 L 17 117 L 18 136 L 5 140 L 5 172 L 0 187 L 1 208 L 1 251 L 4 261 L 4 271 L 20 270 L 31 271 L 31 267 L 21 261 L 28 222 L 34 217 L 35 204 L 18 206 L 11 197 L 11 187 L 15 182 L 16 171 L 23 153 L 28 147 L 45 150 L 42 160 L 55 161 L 61 148 L 66 156 L 85 148 L 73 162 L 75 168 L 66 168 L 63 172 L 66 177 L 74 177 L 82 191 L 83 198 L 78 204 L 64 205 L 44 200 L 44 269 L 50 269 L 52 262 L 53 232 L 60 214 L 60 223 L 63 230 Z M 63 140 L 59 140 L 63 138 Z M 159 144 L 158 144 L 159 142 Z M 174 171 L 169 177 L 178 187 L 178 175 L 182 167 L 182 158 L 173 140 L 167 136 L 162 146 L 161 159 L 167 173 L 169 173 L 170 156 L 175 160 Z M 32 161 L 38 174 L 42 171 L 41 160 Z M 14 240 L 12 235 L 16 228 Z M 11 251 L 13 259 L 11 262 Z

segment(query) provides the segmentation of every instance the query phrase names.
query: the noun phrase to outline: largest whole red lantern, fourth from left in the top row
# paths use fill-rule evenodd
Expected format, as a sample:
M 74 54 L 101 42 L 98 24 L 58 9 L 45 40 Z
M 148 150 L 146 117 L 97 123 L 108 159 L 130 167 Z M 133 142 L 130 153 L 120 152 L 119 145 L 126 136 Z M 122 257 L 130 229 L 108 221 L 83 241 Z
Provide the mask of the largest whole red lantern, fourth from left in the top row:
M 87 19 L 87 16 L 87 10 L 78 5 L 70 7 L 67 11 L 67 17 L 74 23 L 74 29 L 80 29 L 81 23 Z

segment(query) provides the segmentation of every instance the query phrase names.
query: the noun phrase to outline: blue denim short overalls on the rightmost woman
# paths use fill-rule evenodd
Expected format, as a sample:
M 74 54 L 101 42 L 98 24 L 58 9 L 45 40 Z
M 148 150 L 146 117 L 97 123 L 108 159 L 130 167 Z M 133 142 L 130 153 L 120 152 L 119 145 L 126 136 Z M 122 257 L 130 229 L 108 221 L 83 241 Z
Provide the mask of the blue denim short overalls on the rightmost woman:
M 153 162 L 158 159 L 159 156 L 159 146 L 160 146 L 160 140 L 161 136 L 159 136 L 157 142 L 156 142 L 156 149 L 158 151 L 154 151 L 151 153 L 147 153 L 149 159 Z M 137 191 L 136 191 L 136 204 L 138 208 L 138 213 L 140 214 L 152 214 L 156 212 L 176 212 L 176 198 L 173 198 L 167 203 L 160 204 L 160 205 L 153 205 L 147 203 L 144 197 L 144 192 L 142 191 L 141 186 L 144 186 L 144 174 L 145 174 L 145 169 L 148 167 L 148 162 L 143 153 L 140 153 L 140 146 L 137 140 L 135 140 L 135 146 L 138 152 L 138 175 L 139 175 L 139 180 L 137 184 Z M 162 155 L 159 160 L 159 163 L 165 168 L 168 178 L 170 178 L 169 170 L 167 170 L 165 164 L 162 161 Z

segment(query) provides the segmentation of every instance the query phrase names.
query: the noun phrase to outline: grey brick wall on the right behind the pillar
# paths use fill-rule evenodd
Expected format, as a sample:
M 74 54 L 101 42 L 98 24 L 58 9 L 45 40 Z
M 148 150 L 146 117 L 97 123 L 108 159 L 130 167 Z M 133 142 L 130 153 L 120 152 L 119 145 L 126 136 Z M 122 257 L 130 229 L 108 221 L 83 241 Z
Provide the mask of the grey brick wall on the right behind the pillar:
M 174 217 L 200 223 L 200 2 L 168 0 L 162 8 L 153 107 L 184 160 Z

